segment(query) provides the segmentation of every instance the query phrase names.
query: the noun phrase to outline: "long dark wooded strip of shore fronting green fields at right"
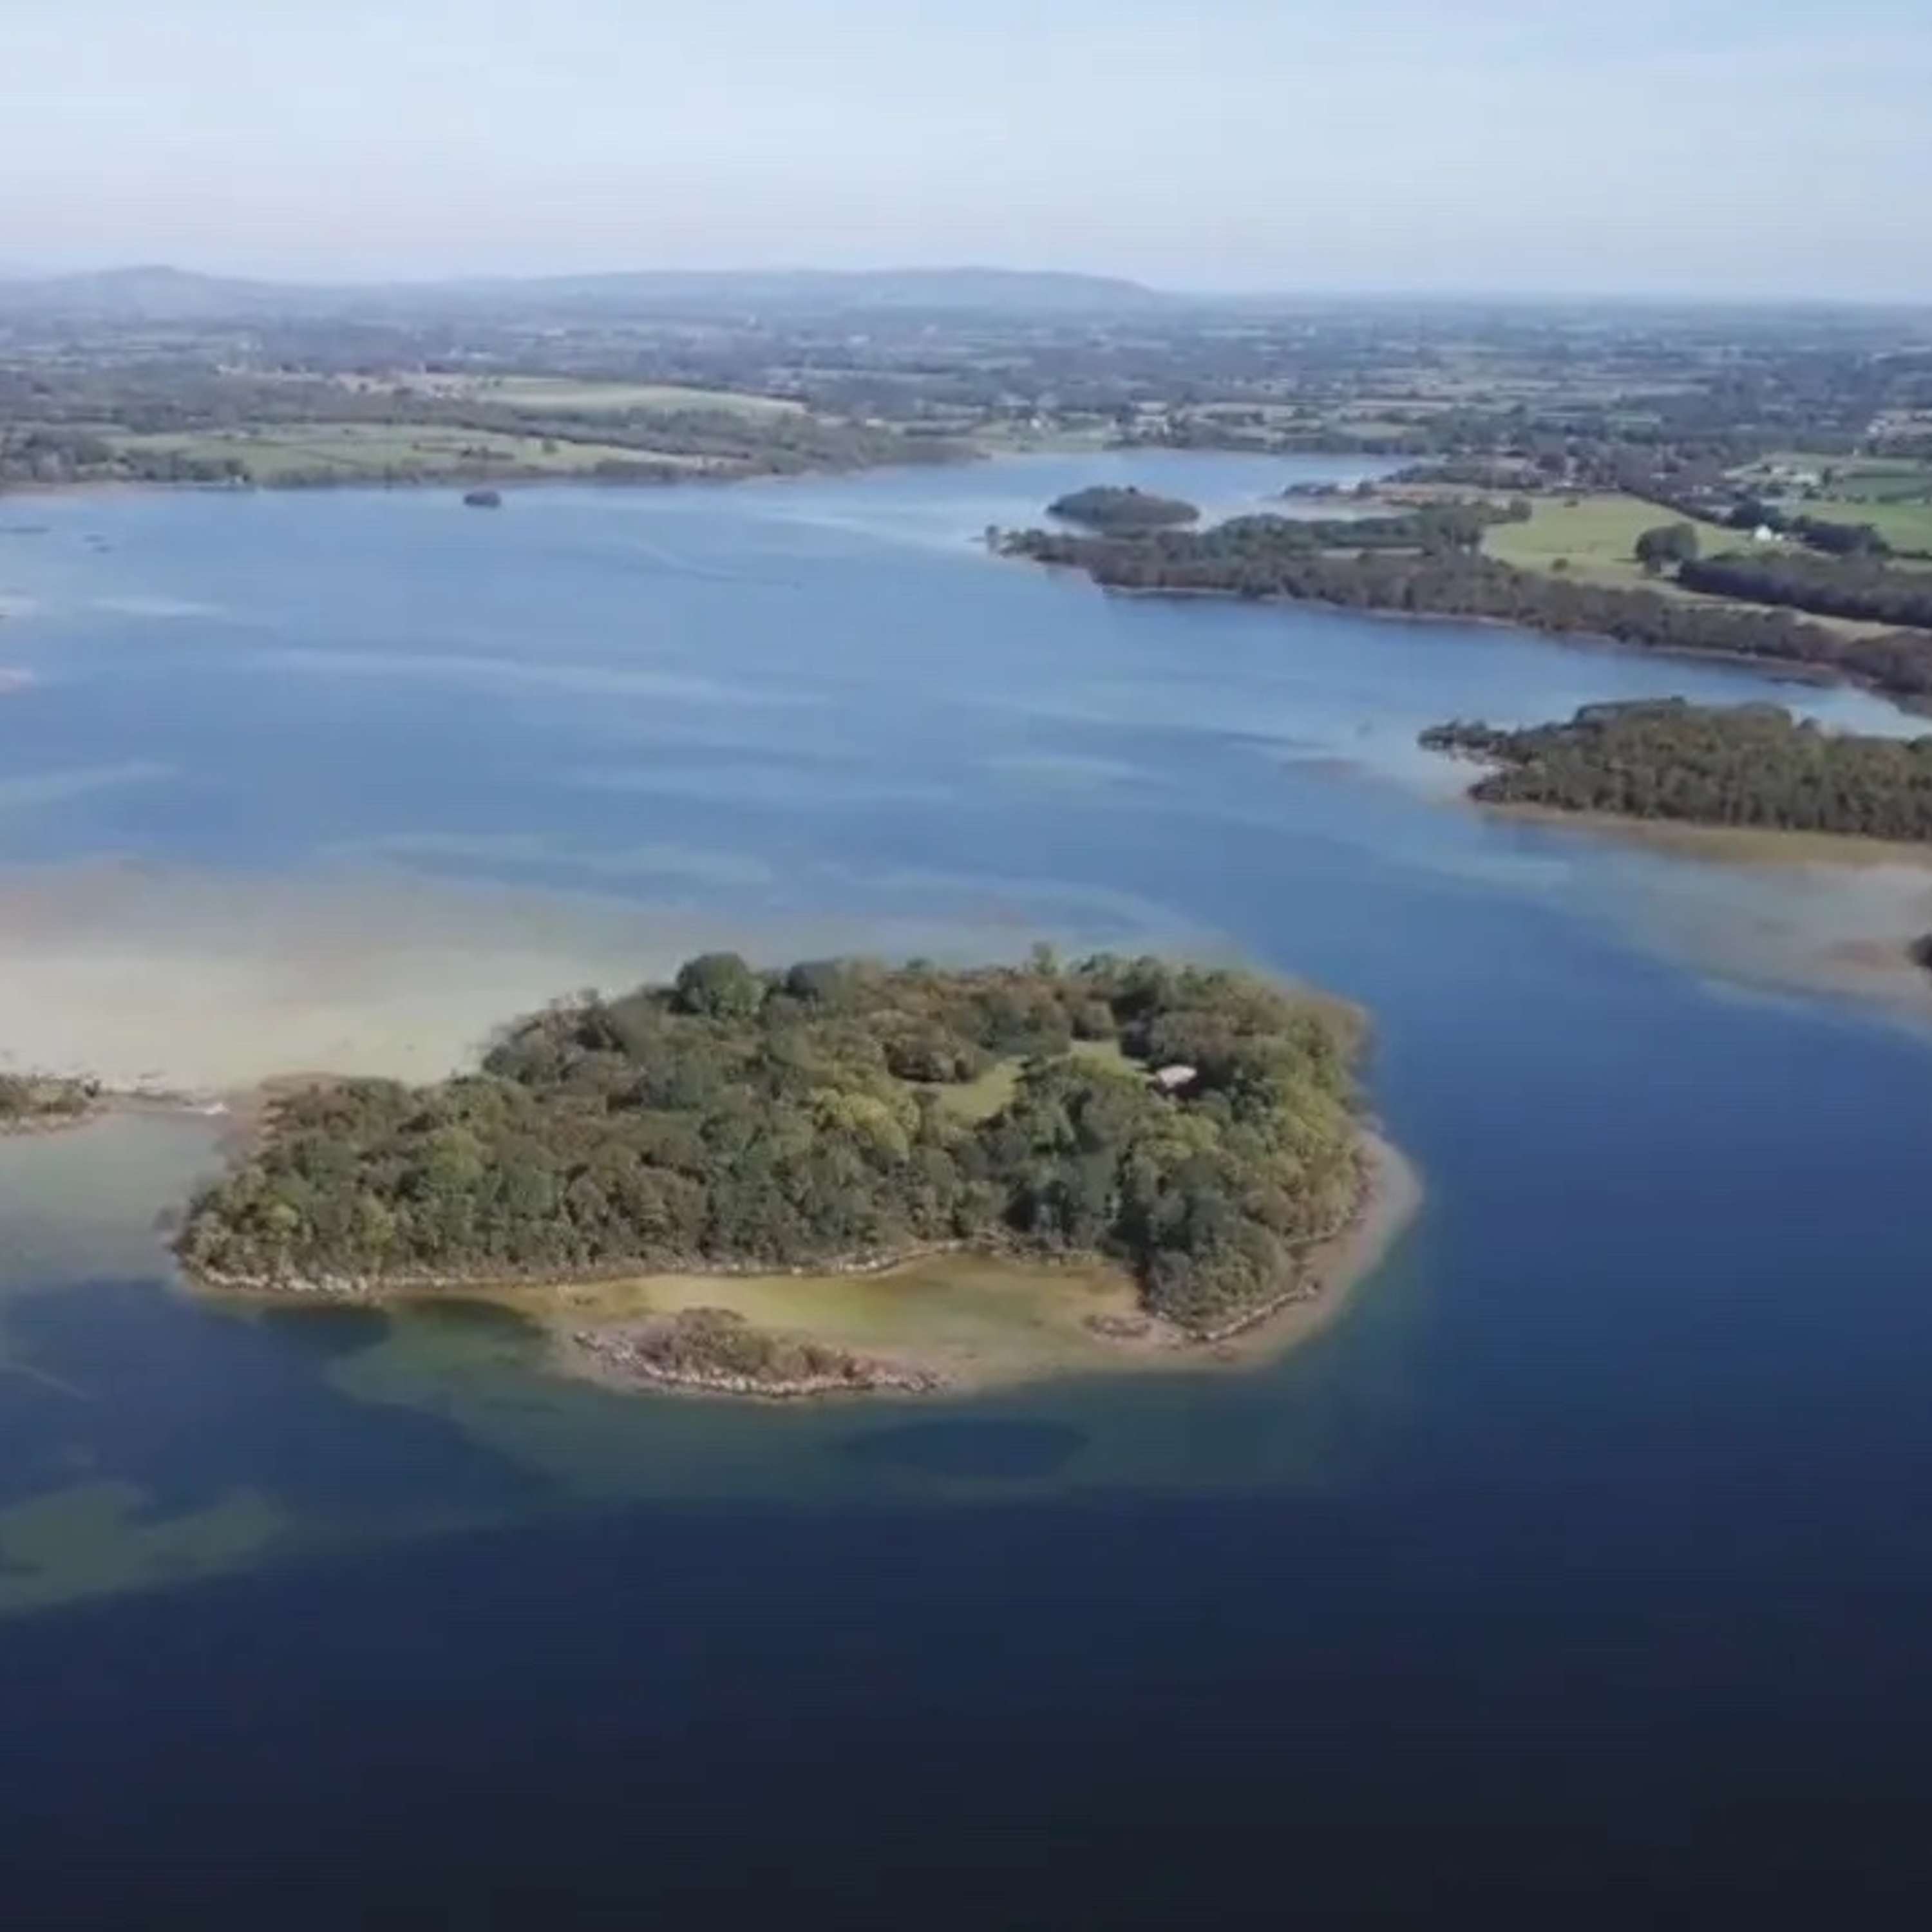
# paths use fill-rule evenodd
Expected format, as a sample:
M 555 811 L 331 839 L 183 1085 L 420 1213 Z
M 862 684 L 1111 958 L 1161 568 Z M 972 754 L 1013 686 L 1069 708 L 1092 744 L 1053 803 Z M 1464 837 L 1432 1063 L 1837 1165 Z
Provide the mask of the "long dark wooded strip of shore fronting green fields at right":
M 1899 697 L 1932 694 L 1932 638 L 1918 632 L 1847 638 L 1787 611 L 1694 603 L 1662 591 L 1517 570 L 1476 549 L 1482 522 L 1472 527 L 1466 516 L 1466 510 L 1461 518 L 1426 510 L 1352 526 L 1246 516 L 1213 529 L 1132 539 L 1028 529 L 1007 537 L 1005 549 L 1036 562 L 1086 570 L 1111 589 L 1219 591 L 1416 616 L 1499 618 L 1646 649 L 1816 665 Z

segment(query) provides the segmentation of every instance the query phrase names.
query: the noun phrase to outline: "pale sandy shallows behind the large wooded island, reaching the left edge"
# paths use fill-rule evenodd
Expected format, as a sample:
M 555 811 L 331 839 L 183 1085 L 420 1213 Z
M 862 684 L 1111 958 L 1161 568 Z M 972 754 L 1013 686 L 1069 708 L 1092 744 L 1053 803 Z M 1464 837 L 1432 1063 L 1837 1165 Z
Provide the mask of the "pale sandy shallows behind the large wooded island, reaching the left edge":
M 667 980 L 717 947 L 1005 958 L 1041 929 L 730 918 L 361 866 L 276 879 L 100 860 L 0 867 L 0 1072 L 232 1095 L 290 1072 L 440 1080 L 518 1014 Z

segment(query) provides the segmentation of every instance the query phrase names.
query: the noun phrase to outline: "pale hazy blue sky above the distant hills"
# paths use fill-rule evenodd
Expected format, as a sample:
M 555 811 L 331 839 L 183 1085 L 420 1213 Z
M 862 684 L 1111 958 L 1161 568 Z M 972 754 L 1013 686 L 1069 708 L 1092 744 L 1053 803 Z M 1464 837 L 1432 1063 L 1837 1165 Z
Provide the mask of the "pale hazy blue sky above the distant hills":
M 0 0 L 0 265 L 1932 298 L 1932 0 Z

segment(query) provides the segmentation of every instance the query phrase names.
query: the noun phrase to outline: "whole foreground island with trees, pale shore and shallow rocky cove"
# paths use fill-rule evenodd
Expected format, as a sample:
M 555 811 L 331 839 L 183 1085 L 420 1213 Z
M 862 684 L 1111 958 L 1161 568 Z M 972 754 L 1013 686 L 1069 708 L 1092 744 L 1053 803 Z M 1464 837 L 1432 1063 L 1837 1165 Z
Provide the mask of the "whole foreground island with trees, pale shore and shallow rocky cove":
M 1005 1298 L 1014 1333 L 1066 1343 L 1032 1372 L 1211 1354 L 1393 1233 L 1378 1196 L 1406 1177 L 1360 1119 L 1362 1032 L 1155 958 L 705 954 L 514 1022 L 477 1072 L 282 1095 L 178 1254 L 236 1293 L 508 1300 L 624 1385 L 970 1379 L 906 1345 L 925 1294 L 968 1323 Z M 883 1329 L 835 1320 L 862 1302 Z

